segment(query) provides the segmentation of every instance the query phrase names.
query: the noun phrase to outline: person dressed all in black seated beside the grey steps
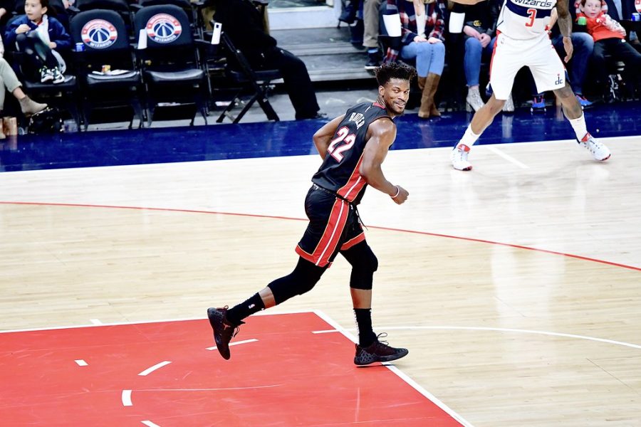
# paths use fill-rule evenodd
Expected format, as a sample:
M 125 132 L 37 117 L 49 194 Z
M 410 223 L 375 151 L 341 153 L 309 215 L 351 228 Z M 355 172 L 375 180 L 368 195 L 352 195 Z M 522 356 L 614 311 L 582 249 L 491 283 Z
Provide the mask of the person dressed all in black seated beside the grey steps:
M 276 46 L 263 25 L 263 15 L 250 0 L 218 0 L 214 2 L 214 20 L 222 23 L 227 33 L 255 70 L 280 70 L 285 89 L 296 110 L 296 120 L 323 118 L 318 113 L 316 92 L 307 67 L 293 53 Z

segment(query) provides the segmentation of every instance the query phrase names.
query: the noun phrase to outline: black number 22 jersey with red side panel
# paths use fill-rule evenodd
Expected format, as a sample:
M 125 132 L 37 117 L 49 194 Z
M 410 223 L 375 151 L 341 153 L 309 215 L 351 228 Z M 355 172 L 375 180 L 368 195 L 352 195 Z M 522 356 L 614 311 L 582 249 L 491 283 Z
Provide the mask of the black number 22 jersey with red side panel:
M 367 182 L 360 176 L 360 163 L 367 143 L 370 123 L 388 117 L 378 102 L 363 102 L 351 107 L 340 122 L 327 149 L 327 156 L 312 182 L 356 204 L 363 198 Z

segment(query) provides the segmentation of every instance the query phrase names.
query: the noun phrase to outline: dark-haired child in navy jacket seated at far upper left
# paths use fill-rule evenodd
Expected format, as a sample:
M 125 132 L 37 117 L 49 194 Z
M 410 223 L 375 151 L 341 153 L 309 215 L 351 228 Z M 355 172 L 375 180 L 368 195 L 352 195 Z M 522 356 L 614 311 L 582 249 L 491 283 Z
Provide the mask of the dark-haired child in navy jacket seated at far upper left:
M 48 16 L 49 0 L 26 0 L 25 14 L 12 21 L 6 28 L 8 46 L 17 44 L 39 73 L 41 83 L 63 83 L 66 65 L 57 50 L 71 47 L 71 36 L 53 16 Z

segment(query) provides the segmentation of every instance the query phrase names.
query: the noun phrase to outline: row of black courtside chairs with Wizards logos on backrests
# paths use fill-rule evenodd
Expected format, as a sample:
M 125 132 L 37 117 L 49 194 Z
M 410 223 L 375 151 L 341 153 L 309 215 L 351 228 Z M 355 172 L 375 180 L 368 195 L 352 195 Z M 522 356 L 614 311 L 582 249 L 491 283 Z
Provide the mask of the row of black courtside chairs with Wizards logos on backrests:
M 212 87 L 212 69 L 225 76 L 219 80 L 224 89 L 236 88 L 219 122 L 225 117 L 238 122 L 254 101 L 259 102 L 269 120 L 278 120 L 264 95 L 260 80 L 264 76 L 253 74 L 224 32 L 223 43 L 212 45 L 196 38 L 191 26 L 189 16 L 179 6 L 145 6 L 133 15 L 132 31 L 137 37 L 132 43 L 118 12 L 80 11 L 69 22 L 74 50 L 66 54 L 66 80 L 56 85 L 41 83 L 39 74 L 28 69 L 24 53 L 13 52 L 8 58 L 28 95 L 69 112 L 85 130 L 90 123 L 123 121 L 110 120 L 122 112 L 129 112 L 130 127 L 135 119 L 144 127 L 145 122 L 151 125 L 159 117 L 178 118 L 176 111 L 181 118 L 191 118 L 192 124 L 200 112 L 207 123 L 208 102 L 217 89 Z M 226 70 L 227 55 L 234 55 L 240 70 Z M 278 77 L 276 73 L 269 75 L 270 80 Z M 248 88 L 251 100 L 237 117 L 232 116 L 232 107 L 239 104 L 240 94 Z M 174 112 L 169 115 L 168 110 Z

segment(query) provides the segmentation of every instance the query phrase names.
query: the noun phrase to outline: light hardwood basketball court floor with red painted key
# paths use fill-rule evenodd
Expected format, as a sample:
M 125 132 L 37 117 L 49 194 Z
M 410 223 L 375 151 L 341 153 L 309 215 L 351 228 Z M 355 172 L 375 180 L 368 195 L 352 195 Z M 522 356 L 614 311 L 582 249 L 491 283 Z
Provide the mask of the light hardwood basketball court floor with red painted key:
M 396 206 L 368 189 L 360 214 L 380 263 L 375 331 L 410 349 L 394 364 L 401 376 L 354 367 L 353 344 L 335 332 L 314 335 L 314 351 L 303 352 L 308 341 L 298 328 L 306 334 L 328 329 L 319 317 L 298 314 L 309 327 L 279 321 L 284 313 L 320 310 L 337 330 L 356 333 L 348 265 L 340 257 L 312 292 L 250 318 L 234 339 L 267 334 L 269 351 L 243 344 L 232 347 L 225 362 L 204 349 L 213 345 L 207 307 L 234 305 L 293 268 L 317 156 L 0 174 L 0 328 L 46 330 L 0 334 L 0 342 L 12 343 L 0 349 L 1 382 L 11 384 L 3 387 L 3 394 L 11 392 L 0 417 L 23 419 L 11 418 L 22 413 L 16 411 L 21 405 L 31 416 L 47 414 L 31 418 L 33 425 L 56 425 L 82 407 L 91 416 L 105 411 L 92 425 L 222 425 L 219 417 L 202 416 L 203 408 L 220 411 L 219 399 L 206 391 L 194 391 L 182 406 L 165 404 L 179 399 L 168 391 L 150 394 L 149 401 L 135 391 L 142 386 L 130 378 L 171 361 L 155 371 L 162 381 L 147 389 L 170 389 L 167 381 L 177 386 L 184 376 L 185 389 L 214 389 L 219 379 L 240 387 L 276 384 L 270 375 L 251 381 L 258 371 L 293 376 L 298 388 L 286 395 L 298 403 L 281 404 L 279 411 L 265 405 L 284 399 L 273 389 L 236 390 L 237 400 L 226 394 L 227 403 L 235 402 L 226 412 L 233 417 L 228 426 L 445 426 L 452 420 L 476 427 L 640 426 L 641 138 L 603 142 L 613 151 L 603 164 L 567 140 L 481 145 L 470 173 L 449 167 L 448 148 L 390 152 L 385 174 L 405 186 L 410 199 Z M 194 320 L 164 322 L 175 319 Z M 92 369 L 82 355 L 102 345 L 97 331 L 103 328 L 127 329 L 105 341 L 122 353 L 106 350 L 103 357 L 135 357 L 100 374 L 118 383 L 111 395 L 84 391 L 87 378 L 75 376 Z M 78 333 L 66 345 L 57 334 L 72 330 Z M 150 344 L 146 334 L 157 342 Z M 68 363 L 54 369 L 57 376 L 38 376 L 29 368 L 33 359 L 19 357 L 23 344 L 45 349 L 45 343 L 64 347 L 63 354 L 51 354 Z M 196 347 L 202 354 L 189 358 Z M 174 360 L 186 366 L 175 369 Z M 129 382 L 120 378 L 125 373 Z M 56 399 L 49 394 L 38 401 L 46 395 L 34 391 L 39 382 L 58 389 Z M 400 402 L 395 387 L 402 389 Z M 127 409 L 123 390 L 132 390 L 136 416 L 105 410 Z M 351 418 L 355 396 L 372 390 L 382 399 L 363 406 L 365 418 Z M 80 406 L 67 405 L 73 396 Z M 334 404 L 332 396 L 342 397 Z M 451 412 L 438 412 L 429 396 Z M 407 414 L 397 411 L 403 406 L 418 408 L 412 416 L 420 421 L 403 421 Z M 295 418 L 281 418 L 289 407 Z M 306 408 L 325 410 L 312 424 Z M 449 421 L 429 421 L 429 408 Z M 72 418 L 56 418 L 56 411 Z

